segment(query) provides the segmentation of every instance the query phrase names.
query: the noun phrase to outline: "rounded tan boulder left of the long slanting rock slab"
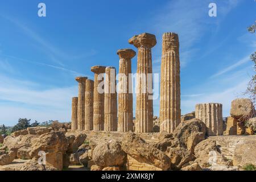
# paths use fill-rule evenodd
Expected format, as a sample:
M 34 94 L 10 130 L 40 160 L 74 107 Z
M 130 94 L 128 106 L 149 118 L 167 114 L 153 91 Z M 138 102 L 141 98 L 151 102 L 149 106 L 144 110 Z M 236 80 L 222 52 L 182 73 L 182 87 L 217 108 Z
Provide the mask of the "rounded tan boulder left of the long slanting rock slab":
M 98 144 L 93 150 L 92 159 L 100 167 L 123 166 L 126 154 L 119 142 L 111 140 Z

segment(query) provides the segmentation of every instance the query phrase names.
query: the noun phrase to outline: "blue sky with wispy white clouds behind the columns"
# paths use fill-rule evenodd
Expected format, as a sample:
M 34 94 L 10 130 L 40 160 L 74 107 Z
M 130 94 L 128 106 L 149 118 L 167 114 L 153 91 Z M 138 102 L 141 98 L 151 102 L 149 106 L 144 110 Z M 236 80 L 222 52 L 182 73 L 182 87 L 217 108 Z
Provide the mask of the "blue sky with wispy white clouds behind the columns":
M 43 18 L 40 2 L 46 3 Z M 208 15 L 210 2 L 217 4 L 217 17 Z M 75 77 L 93 78 L 93 65 L 118 69 L 117 50 L 137 51 L 127 40 L 142 32 L 158 41 L 152 48 L 154 73 L 160 73 L 162 34 L 179 34 L 183 114 L 195 104 L 220 102 L 228 116 L 230 102 L 244 97 L 253 75 L 255 35 L 246 28 L 255 12 L 254 0 L 1 1 L 0 125 L 13 126 L 19 118 L 70 121 Z M 133 73 L 136 67 L 137 57 Z

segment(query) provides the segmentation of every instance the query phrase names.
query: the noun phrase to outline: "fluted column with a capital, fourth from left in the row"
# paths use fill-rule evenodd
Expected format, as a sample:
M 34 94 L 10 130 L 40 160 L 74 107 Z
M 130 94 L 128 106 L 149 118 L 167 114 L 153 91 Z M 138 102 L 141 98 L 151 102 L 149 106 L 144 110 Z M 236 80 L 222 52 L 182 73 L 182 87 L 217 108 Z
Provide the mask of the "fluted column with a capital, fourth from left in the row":
M 104 73 L 105 68 L 94 66 L 91 71 L 94 73 L 93 88 L 93 130 L 104 130 Z

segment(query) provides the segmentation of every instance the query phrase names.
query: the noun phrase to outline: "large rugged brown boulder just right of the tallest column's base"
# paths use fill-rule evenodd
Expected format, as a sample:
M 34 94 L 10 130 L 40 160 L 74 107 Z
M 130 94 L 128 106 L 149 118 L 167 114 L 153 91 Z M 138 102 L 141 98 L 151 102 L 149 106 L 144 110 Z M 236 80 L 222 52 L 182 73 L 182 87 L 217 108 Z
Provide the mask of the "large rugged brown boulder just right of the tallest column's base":
M 174 137 L 180 140 L 188 150 L 194 150 L 197 143 L 205 139 L 207 133 L 207 126 L 200 119 L 191 119 L 189 121 L 180 123 L 174 130 Z

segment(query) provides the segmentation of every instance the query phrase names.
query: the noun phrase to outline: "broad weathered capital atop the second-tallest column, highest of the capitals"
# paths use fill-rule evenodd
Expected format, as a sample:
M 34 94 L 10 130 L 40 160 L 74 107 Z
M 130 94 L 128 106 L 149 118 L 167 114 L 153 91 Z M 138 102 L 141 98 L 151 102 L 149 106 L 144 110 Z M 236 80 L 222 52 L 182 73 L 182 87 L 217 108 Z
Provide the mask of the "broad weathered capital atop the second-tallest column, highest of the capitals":
M 156 45 L 155 35 L 143 33 L 133 36 L 128 40 L 129 44 L 133 44 L 135 47 L 148 47 L 152 48 Z

